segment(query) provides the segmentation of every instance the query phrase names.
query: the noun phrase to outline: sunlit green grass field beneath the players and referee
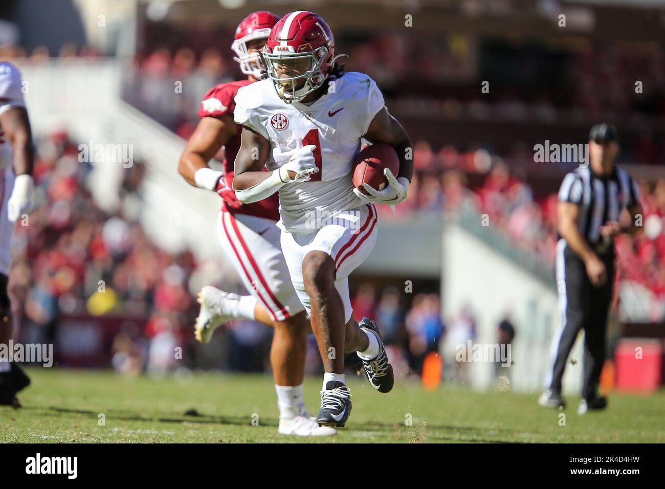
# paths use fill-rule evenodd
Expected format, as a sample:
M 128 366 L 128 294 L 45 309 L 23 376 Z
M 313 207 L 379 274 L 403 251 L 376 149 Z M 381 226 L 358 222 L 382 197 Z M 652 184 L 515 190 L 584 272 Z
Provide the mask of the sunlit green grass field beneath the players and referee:
M 33 385 L 21 393 L 23 408 L 0 407 L 0 442 L 312 441 L 277 434 L 275 391 L 267 375 L 130 379 L 57 369 L 31 369 L 29 375 Z M 460 387 L 428 393 L 410 382 L 382 395 L 360 377 L 349 385 L 351 417 L 325 442 L 665 442 L 663 391 L 612 395 L 606 412 L 585 416 L 577 415 L 578 399 L 570 397 L 566 425 L 560 426 L 559 412 L 537 407 L 535 395 Z M 319 379 L 305 381 L 313 412 L 320 386 Z

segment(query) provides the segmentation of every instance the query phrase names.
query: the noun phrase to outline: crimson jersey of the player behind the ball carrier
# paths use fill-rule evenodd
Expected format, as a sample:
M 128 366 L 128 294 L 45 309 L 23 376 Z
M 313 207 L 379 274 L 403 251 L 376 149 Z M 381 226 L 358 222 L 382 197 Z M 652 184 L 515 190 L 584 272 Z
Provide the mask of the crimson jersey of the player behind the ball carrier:
M 207 92 L 199 108 L 199 117 L 220 117 L 229 114 L 233 118 L 235 110 L 235 94 L 238 90 L 251 83 L 249 80 L 220 83 L 212 90 Z M 240 134 L 243 126 L 237 124 L 235 136 L 232 136 L 224 145 L 224 173 L 229 187 L 233 186 L 233 162 L 240 149 Z M 240 208 L 233 209 L 222 203 L 222 210 L 231 212 L 231 214 L 249 214 L 257 218 L 266 218 L 273 221 L 279 221 L 279 194 L 271 195 L 268 198 L 252 202 L 251 204 L 242 204 Z

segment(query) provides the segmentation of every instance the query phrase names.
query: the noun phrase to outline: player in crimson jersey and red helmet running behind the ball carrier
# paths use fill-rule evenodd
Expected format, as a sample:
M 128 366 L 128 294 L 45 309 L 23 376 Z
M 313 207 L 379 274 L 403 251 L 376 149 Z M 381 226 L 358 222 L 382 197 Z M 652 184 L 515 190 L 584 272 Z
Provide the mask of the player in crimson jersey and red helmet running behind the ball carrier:
M 303 377 L 309 319 L 293 290 L 280 245 L 277 195 L 251 204 L 239 202 L 231 188 L 233 160 L 240 146 L 241 126 L 233 121 L 233 98 L 239 88 L 261 78 L 259 51 L 279 21 L 273 13 L 251 13 L 237 27 L 231 49 L 243 81 L 218 84 L 203 98 L 201 120 L 190 138 L 178 171 L 193 186 L 217 192 L 223 198 L 217 233 L 219 242 L 251 295 L 239 296 L 205 286 L 199 292 L 201 310 L 195 335 L 207 343 L 219 325 L 229 319 L 253 319 L 275 329 L 270 361 L 279 407 L 279 432 L 301 436 L 329 436 L 333 428 L 319 426 L 307 414 Z M 224 172 L 207 165 L 224 146 Z

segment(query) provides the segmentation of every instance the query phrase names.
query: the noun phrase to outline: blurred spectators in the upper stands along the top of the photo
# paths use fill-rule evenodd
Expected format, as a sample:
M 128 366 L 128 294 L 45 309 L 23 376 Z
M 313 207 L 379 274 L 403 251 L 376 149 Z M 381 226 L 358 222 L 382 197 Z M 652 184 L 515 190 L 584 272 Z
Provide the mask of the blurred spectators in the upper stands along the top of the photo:
M 188 138 L 198 122 L 201 96 L 219 82 L 243 78 L 229 49 L 232 37 L 224 29 L 192 31 L 148 25 L 143 47 L 125 72 L 124 98 Z M 349 55 L 340 59 L 347 71 L 374 77 L 391 106 L 405 112 L 424 111 L 447 118 L 466 114 L 495 124 L 503 118 L 540 124 L 564 124 L 593 116 L 630 120 L 638 135 L 626 139 L 622 158 L 662 163 L 665 140 L 655 121 L 665 116 L 661 82 L 665 56 L 658 45 L 594 44 L 577 39 L 562 51 L 560 46 L 545 43 L 525 49 L 458 33 L 385 32 L 341 33 L 336 44 L 338 53 Z M 71 43 L 57 53 L 44 46 L 30 52 L 0 47 L 0 55 L 3 59 L 29 57 L 34 63 L 55 56 L 100 57 L 94 49 Z M 478 89 L 483 77 L 493 82 L 488 93 Z M 640 126 L 638 130 L 635 124 Z M 514 142 L 516 148 L 524 146 L 519 138 Z

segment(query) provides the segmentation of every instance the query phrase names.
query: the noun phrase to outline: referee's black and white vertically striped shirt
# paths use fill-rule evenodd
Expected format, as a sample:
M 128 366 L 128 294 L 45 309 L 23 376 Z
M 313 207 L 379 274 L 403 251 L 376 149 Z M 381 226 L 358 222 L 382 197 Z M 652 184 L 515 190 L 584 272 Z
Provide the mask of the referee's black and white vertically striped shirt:
M 600 177 L 587 168 L 577 168 L 563 179 L 559 201 L 580 206 L 579 230 L 591 245 L 602 241 L 600 226 L 618 221 L 626 208 L 639 204 L 639 190 L 633 178 L 614 166 L 610 176 Z

